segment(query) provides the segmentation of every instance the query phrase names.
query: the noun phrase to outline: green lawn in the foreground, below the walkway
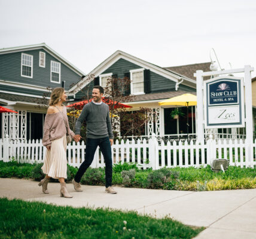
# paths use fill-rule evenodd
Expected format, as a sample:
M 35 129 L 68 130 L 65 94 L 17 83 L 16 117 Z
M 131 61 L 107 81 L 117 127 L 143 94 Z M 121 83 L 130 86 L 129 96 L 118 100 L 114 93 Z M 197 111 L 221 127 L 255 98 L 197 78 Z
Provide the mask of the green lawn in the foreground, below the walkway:
M 127 223 L 125 223 L 126 221 Z M 0 198 L 0 238 L 193 238 L 192 228 L 136 212 L 75 209 Z

